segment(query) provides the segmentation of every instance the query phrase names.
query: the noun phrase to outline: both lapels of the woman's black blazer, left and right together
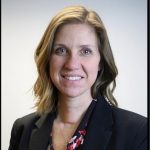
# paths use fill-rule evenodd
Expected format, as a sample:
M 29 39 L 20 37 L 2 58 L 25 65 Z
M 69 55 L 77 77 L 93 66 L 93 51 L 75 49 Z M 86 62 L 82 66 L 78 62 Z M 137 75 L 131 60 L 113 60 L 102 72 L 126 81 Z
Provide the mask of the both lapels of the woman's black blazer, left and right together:
M 49 113 L 41 116 L 36 122 L 36 128 L 31 133 L 29 150 L 47 149 L 54 118 L 55 113 Z M 112 135 L 112 125 L 111 106 L 103 97 L 99 97 L 89 120 L 83 150 L 105 150 Z

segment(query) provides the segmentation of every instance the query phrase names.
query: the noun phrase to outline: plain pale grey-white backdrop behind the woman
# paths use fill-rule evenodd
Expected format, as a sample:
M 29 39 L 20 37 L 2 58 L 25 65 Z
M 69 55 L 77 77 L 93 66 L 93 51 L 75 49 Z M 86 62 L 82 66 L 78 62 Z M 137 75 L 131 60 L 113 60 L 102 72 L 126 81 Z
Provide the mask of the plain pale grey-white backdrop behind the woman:
M 72 4 L 101 16 L 119 70 L 119 106 L 147 116 L 146 0 L 2 0 L 2 149 L 14 120 L 33 112 L 34 51 L 50 19 Z

